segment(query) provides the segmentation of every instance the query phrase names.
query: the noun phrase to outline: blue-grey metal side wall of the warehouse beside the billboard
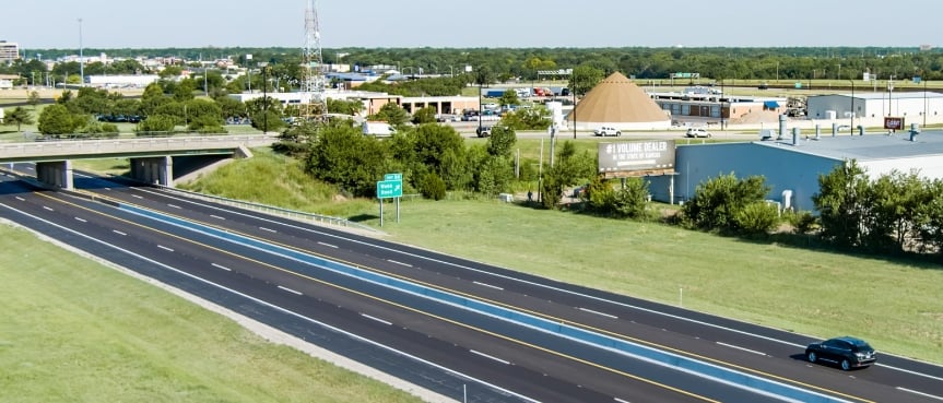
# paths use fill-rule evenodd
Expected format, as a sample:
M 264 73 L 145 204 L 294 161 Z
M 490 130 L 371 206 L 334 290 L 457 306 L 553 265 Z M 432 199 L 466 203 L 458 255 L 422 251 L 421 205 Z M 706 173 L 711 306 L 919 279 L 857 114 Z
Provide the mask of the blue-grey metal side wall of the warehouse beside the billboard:
M 812 195 L 818 192 L 818 175 L 841 161 L 792 150 L 800 145 L 715 143 L 679 145 L 675 152 L 675 202 L 688 200 L 699 183 L 733 173 L 738 178 L 759 175 L 770 187 L 767 199 L 783 202 L 782 191 L 792 191 L 794 210 L 812 211 Z M 670 176 L 647 177 L 652 199 L 670 200 Z

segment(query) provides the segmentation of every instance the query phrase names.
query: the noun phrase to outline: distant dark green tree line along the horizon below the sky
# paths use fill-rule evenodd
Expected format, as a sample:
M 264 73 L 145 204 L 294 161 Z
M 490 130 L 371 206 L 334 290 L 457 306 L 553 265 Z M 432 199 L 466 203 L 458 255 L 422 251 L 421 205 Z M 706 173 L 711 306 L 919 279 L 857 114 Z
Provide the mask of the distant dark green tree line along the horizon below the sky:
M 111 57 L 177 56 L 179 67 L 199 67 L 198 60 L 210 58 L 232 59 L 238 66 L 258 68 L 258 61 L 267 61 L 272 68 L 272 78 L 285 91 L 298 88 L 302 82 L 302 55 L 292 48 L 195 48 L 195 49 L 87 49 L 90 54 L 106 52 Z M 33 55 L 45 58 L 74 55 L 74 50 L 36 49 Z M 252 59 L 247 59 L 252 55 Z M 358 68 L 369 66 L 396 66 L 410 74 L 459 76 L 483 74 L 493 76 L 493 82 L 512 79 L 534 81 L 539 79 L 566 79 L 540 74 L 559 69 L 593 67 L 605 75 L 622 72 L 637 80 L 669 80 L 672 73 L 698 73 L 705 80 L 724 80 L 735 84 L 736 80 L 850 80 L 860 79 L 870 72 L 881 80 L 894 76 L 906 80 L 921 76 L 923 80 L 943 80 L 943 52 L 936 49 L 886 47 L 794 47 L 794 48 L 337 48 L 323 49 L 323 61 L 329 64 L 347 64 Z M 43 83 L 46 73 L 54 82 L 67 79 L 75 81 L 78 62 L 56 63 L 51 71 L 33 57 L 19 59 L 0 66 L 2 74 L 19 74 L 21 82 L 35 80 Z M 184 61 L 186 60 L 186 61 Z M 212 69 L 217 73 L 219 69 Z M 469 71 L 470 70 L 470 71 Z M 155 73 L 137 60 L 123 60 L 85 66 L 86 74 L 134 74 Z M 71 79 L 70 79 L 71 78 Z M 249 79 L 251 80 L 251 79 Z M 260 80 L 260 79 L 256 79 Z M 474 82 L 474 81 L 469 81 Z M 245 80 L 241 87 L 248 85 Z M 252 83 L 254 87 L 256 83 Z

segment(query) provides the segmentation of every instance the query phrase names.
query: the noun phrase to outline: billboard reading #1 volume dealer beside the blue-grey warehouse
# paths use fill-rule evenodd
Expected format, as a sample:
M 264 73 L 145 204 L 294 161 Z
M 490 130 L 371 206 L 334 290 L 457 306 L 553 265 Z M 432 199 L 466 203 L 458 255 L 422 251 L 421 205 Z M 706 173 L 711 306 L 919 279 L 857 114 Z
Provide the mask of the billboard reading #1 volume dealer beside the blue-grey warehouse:
M 674 170 L 674 140 L 599 143 L 599 173 Z

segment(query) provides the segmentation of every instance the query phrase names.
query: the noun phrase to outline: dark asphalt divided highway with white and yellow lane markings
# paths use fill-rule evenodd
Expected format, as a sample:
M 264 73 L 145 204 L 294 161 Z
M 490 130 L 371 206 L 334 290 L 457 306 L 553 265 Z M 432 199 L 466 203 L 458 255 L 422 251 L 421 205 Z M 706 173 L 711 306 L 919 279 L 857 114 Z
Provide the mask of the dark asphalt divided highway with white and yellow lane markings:
M 939 366 L 882 355 L 877 366 L 842 372 L 806 363 L 803 347 L 813 340 L 788 332 L 195 202 L 148 187 L 76 178 L 76 188 L 110 201 L 101 203 L 35 191 L 9 176 L 2 179 L 0 216 L 457 400 L 463 386 L 474 401 L 783 398 L 339 275 L 284 252 L 152 221 L 110 204 L 135 204 L 204 223 L 834 401 L 943 401 Z

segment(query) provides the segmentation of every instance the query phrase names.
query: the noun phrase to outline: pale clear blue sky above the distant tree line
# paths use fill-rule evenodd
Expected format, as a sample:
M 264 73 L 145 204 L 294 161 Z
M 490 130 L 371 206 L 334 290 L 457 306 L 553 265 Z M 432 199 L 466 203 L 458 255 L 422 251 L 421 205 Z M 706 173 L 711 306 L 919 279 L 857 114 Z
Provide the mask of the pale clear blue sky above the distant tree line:
M 298 47 L 310 0 L 3 0 L 21 48 Z M 321 47 L 917 47 L 938 0 L 317 0 Z M 82 20 L 81 23 L 79 20 Z M 81 34 L 80 34 L 81 32 Z

